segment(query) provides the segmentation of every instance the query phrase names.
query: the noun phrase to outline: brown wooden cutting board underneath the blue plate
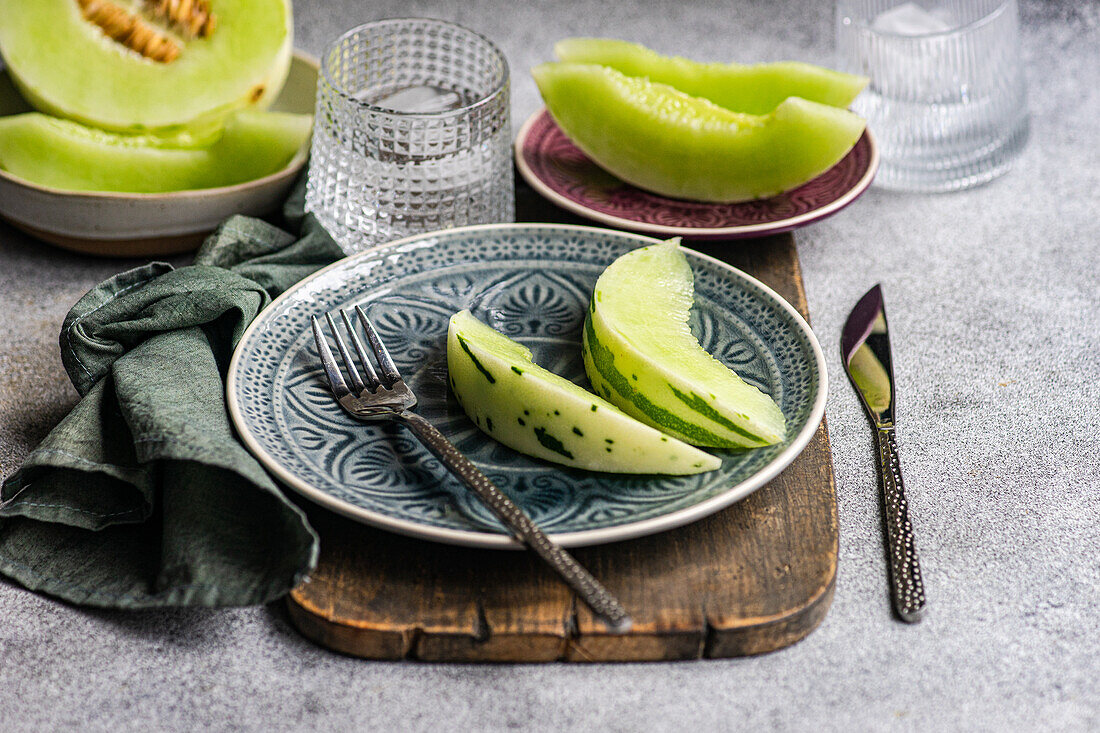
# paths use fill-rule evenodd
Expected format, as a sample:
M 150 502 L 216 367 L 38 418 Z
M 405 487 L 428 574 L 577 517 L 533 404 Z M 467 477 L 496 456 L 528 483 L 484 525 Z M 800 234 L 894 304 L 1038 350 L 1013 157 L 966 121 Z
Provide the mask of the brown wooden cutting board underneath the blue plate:
M 517 186 L 520 221 L 586 223 Z M 745 270 L 807 316 L 790 234 L 690 247 Z M 372 659 L 641 661 L 761 654 L 812 632 L 836 578 L 836 493 L 823 423 L 748 499 L 679 529 L 579 548 L 634 628 L 613 635 L 529 553 L 450 547 L 309 507 L 317 570 L 290 592 L 298 630 Z

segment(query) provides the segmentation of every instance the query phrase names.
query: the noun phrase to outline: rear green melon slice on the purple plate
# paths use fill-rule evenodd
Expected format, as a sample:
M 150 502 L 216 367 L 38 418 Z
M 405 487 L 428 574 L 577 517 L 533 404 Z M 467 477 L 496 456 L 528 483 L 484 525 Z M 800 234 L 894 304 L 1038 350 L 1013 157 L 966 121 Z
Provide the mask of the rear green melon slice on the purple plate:
M 868 81 L 864 76 L 801 62 L 693 62 L 662 56 L 637 43 L 614 39 L 565 39 L 556 43 L 553 51 L 563 62 L 609 66 L 626 76 L 647 77 L 686 95 L 708 99 L 718 107 L 749 114 L 767 114 L 788 97 L 846 108 Z

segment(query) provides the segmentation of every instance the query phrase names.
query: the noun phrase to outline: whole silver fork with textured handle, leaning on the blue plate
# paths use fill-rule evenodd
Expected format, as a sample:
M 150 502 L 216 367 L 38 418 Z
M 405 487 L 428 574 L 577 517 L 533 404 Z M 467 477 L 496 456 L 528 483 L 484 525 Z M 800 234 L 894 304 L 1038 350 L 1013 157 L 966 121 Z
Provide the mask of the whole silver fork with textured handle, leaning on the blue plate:
M 371 325 L 371 320 L 363 313 L 363 309 L 355 306 L 355 315 L 366 331 L 371 350 L 378 361 L 378 370 L 375 370 L 371 358 L 363 346 L 362 340 L 355 332 L 352 319 L 346 310 L 340 311 L 344 328 L 351 338 L 355 355 L 363 366 L 365 380 L 360 375 L 355 366 L 355 358 L 337 328 L 336 320 L 330 314 L 324 314 L 324 319 L 332 330 L 333 340 L 344 366 L 348 368 L 348 376 L 351 384 L 344 380 L 343 373 L 337 365 L 337 361 L 329 349 L 328 339 L 321 330 L 321 324 L 317 316 L 310 317 L 314 326 L 314 338 L 317 340 L 317 351 L 321 355 L 321 364 L 324 366 L 324 374 L 329 379 L 329 386 L 340 406 L 349 415 L 361 420 L 393 419 L 413 430 L 428 450 L 436 458 L 442 461 L 451 473 L 459 478 L 474 494 L 487 506 L 493 514 L 504 523 L 512 534 L 519 541 L 524 543 L 542 558 L 561 579 L 569 584 L 581 600 L 592 609 L 593 613 L 607 625 L 608 630 L 615 633 L 625 633 L 630 630 L 631 620 L 623 605 L 607 592 L 598 580 L 592 577 L 587 570 L 582 568 L 560 545 L 552 541 L 539 529 L 538 525 L 497 489 L 488 478 L 477 470 L 469 458 L 463 456 L 454 445 L 448 440 L 442 433 L 426 420 L 424 417 L 413 412 L 416 406 L 416 395 L 413 390 L 405 384 L 400 372 L 394 365 L 389 352 L 378 337 L 378 332 Z M 382 372 L 381 376 L 378 371 Z

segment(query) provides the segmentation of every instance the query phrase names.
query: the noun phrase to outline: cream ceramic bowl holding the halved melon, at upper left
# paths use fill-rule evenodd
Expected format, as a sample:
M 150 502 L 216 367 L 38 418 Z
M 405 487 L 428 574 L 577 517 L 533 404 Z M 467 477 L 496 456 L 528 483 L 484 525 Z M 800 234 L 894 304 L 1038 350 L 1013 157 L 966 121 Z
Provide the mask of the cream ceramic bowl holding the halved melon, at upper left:
M 295 52 L 273 110 L 312 114 L 317 59 Z M 29 111 L 0 70 L 0 116 Z M 160 256 L 194 250 L 227 217 L 278 208 L 309 154 L 304 145 L 282 171 L 233 186 L 169 194 L 73 192 L 0 171 L 0 217 L 57 247 L 101 256 Z

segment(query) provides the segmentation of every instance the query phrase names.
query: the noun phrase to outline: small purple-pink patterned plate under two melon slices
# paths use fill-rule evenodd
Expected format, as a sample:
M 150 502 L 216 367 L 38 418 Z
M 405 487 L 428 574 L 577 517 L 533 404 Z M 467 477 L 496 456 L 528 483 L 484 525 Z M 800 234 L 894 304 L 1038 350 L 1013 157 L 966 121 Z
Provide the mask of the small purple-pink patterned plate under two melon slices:
M 578 150 L 542 109 L 516 136 L 516 165 L 539 194 L 604 225 L 664 237 L 740 239 L 791 231 L 836 214 L 871 185 L 879 151 L 865 132 L 839 163 L 785 194 L 743 204 L 701 204 L 619 180 Z

